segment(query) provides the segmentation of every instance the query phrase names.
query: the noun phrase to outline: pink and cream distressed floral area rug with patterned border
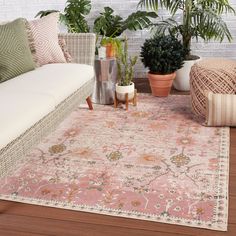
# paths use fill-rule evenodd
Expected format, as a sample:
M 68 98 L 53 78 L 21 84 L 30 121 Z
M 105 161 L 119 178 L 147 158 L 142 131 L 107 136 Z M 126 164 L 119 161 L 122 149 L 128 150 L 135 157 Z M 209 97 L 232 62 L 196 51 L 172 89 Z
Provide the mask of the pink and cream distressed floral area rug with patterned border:
M 128 112 L 76 109 L 0 179 L 0 198 L 225 231 L 228 177 L 228 128 L 194 120 L 189 96 L 141 94 Z

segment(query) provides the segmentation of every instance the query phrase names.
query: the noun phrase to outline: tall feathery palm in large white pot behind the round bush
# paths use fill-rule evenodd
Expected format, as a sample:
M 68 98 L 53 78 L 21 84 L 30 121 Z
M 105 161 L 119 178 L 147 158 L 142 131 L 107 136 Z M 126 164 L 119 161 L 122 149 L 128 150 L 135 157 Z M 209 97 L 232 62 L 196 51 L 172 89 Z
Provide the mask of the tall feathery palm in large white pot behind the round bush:
M 202 38 L 205 41 L 219 40 L 226 37 L 229 41 L 232 36 L 226 23 L 222 19 L 224 13 L 235 13 L 228 0 L 140 0 L 139 6 L 158 11 L 159 5 L 170 11 L 171 17 L 155 24 L 157 33 L 168 32 L 181 37 L 182 44 L 188 53 L 185 57 L 183 69 L 177 72 L 174 82 L 176 89 L 189 90 L 189 72 L 191 66 L 200 57 L 191 54 L 193 38 Z M 176 20 L 176 16 L 181 20 Z

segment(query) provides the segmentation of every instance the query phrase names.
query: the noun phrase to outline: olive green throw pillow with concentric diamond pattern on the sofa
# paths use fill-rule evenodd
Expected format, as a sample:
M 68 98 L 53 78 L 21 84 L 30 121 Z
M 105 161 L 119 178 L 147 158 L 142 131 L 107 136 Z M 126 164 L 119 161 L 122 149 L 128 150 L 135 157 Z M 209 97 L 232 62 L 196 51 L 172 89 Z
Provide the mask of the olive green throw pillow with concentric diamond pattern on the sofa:
M 35 69 L 25 24 L 17 19 L 0 25 L 0 82 Z

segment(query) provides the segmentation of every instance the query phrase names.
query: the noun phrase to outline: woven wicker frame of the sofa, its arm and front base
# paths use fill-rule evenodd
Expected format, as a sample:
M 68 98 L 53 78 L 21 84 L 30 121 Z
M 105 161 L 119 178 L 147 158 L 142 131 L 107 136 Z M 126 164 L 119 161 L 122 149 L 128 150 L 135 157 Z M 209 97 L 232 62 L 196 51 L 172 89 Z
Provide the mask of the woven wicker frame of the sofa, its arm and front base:
M 60 34 L 59 38 L 65 39 L 74 63 L 94 64 L 94 34 Z M 88 81 L 84 86 L 61 102 L 51 113 L 2 148 L 0 150 L 0 177 L 11 171 L 17 162 L 20 162 L 26 157 L 27 153 L 39 144 L 46 135 L 54 131 L 68 114 L 80 103 L 85 102 L 86 98 L 93 92 L 93 85 L 94 79 Z

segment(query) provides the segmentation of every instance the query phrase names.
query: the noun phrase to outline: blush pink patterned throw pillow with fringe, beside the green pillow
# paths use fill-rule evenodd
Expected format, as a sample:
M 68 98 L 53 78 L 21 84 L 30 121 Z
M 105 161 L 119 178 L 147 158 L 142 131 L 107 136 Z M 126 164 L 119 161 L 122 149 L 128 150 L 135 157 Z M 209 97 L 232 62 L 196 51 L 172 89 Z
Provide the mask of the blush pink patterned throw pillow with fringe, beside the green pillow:
M 58 43 L 58 13 L 52 13 L 29 22 L 36 50 L 36 59 L 40 66 L 49 63 L 66 63 Z

